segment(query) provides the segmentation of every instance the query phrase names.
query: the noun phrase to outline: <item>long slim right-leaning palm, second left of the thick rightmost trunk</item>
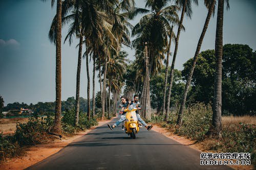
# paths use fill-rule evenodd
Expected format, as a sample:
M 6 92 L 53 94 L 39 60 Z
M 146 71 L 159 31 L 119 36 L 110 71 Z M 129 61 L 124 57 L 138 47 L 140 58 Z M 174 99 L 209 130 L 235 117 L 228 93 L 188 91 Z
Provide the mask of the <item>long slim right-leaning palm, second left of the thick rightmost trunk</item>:
M 197 0 L 194 0 L 196 4 L 198 4 Z M 176 4 L 178 6 L 182 7 L 181 11 L 181 17 L 180 17 L 180 22 L 179 22 L 179 27 L 178 27 L 178 32 L 176 36 L 176 41 L 175 41 L 175 50 L 174 50 L 174 56 L 173 56 L 173 61 L 172 61 L 172 66 L 170 69 L 170 79 L 169 79 L 169 89 L 168 89 L 168 99 L 167 99 L 167 106 L 166 106 L 166 113 L 164 120 L 167 121 L 169 118 L 169 107 L 170 107 L 170 94 L 172 92 L 172 86 L 173 86 L 173 79 L 174 79 L 174 65 L 175 65 L 175 60 L 178 52 L 178 45 L 179 45 L 179 38 L 180 38 L 180 31 L 183 27 L 182 22 L 184 15 L 186 14 L 189 18 L 191 18 L 192 10 L 191 10 L 191 0 L 177 0 Z

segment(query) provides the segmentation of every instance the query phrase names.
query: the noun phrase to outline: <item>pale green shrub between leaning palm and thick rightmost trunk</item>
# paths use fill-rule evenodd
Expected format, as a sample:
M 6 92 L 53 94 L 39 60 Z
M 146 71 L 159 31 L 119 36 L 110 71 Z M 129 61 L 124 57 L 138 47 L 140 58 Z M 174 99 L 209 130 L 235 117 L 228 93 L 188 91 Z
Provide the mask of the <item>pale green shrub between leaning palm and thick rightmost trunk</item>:
M 201 141 L 209 130 L 211 118 L 212 110 L 209 104 L 193 104 L 184 111 L 183 123 L 178 134 Z

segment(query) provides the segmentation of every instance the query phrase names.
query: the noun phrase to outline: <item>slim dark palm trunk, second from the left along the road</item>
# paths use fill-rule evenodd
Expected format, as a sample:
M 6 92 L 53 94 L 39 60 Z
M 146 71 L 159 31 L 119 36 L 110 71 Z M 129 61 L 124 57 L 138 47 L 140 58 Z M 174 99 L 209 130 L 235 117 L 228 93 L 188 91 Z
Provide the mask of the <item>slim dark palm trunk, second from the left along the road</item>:
M 80 107 L 80 73 L 81 73 L 81 60 L 82 60 L 82 41 L 83 36 L 80 36 L 79 40 L 79 50 L 78 50 L 78 62 L 77 62 L 77 72 L 76 72 L 76 118 L 75 126 L 78 126 L 79 122 L 79 107 Z

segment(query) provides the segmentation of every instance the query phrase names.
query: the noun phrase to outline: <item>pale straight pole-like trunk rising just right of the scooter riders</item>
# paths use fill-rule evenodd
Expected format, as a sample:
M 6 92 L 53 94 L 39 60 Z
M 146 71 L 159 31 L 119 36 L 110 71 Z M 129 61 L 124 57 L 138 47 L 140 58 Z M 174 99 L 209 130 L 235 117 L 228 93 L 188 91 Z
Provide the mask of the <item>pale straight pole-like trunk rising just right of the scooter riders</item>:
M 145 42 L 145 61 L 146 61 L 145 118 L 148 120 L 151 120 L 150 72 L 148 70 L 147 42 Z

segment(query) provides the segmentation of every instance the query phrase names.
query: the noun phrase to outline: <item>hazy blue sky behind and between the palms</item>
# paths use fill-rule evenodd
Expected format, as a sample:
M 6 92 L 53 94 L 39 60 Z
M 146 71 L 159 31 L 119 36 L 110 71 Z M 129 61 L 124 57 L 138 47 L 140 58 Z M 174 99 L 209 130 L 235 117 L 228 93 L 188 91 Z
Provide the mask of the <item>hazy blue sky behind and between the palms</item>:
M 145 3 L 137 0 L 136 4 L 143 8 Z M 230 10 L 224 11 L 223 43 L 248 44 L 256 50 L 256 1 L 229 0 L 229 4 Z M 50 1 L 0 0 L 0 95 L 5 105 L 55 100 L 55 47 L 48 39 L 55 12 L 56 7 L 52 9 Z M 199 6 L 193 5 L 192 18 L 184 19 L 186 31 L 180 35 L 175 68 L 183 69 L 183 63 L 194 56 L 206 15 L 203 1 L 199 1 Z M 131 23 L 135 25 L 139 18 Z M 214 49 L 216 18 L 217 15 L 210 20 L 201 51 Z M 68 27 L 63 28 L 62 38 L 67 30 Z M 75 96 L 77 43 L 78 40 L 74 40 L 71 46 L 62 44 L 62 100 Z M 134 50 L 123 49 L 129 53 L 129 59 L 134 60 Z M 85 62 L 82 60 L 81 67 L 80 95 L 83 98 L 87 96 Z M 99 91 L 98 82 L 96 91 Z

